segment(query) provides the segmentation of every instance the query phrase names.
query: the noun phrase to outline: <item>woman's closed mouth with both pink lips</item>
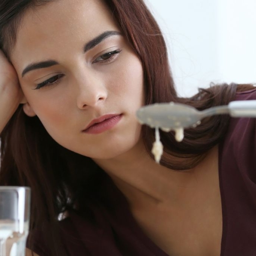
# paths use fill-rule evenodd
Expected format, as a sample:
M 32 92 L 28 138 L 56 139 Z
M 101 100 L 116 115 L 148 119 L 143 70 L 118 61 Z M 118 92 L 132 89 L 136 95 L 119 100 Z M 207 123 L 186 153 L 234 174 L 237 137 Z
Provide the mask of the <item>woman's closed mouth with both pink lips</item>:
M 122 118 L 122 114 L 108 114 L 93 119 L 89 125 L 83 130 L 87 134 L 100 134 L 113 128 Z

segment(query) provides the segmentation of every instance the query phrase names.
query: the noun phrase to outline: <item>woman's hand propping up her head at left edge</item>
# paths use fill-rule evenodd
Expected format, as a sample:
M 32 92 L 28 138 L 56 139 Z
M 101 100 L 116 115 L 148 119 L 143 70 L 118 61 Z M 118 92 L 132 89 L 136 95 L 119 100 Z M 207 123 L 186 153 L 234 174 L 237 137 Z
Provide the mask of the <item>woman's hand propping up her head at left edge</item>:
M 0 50 L 0 133 L 23 97 L 16 70 Z

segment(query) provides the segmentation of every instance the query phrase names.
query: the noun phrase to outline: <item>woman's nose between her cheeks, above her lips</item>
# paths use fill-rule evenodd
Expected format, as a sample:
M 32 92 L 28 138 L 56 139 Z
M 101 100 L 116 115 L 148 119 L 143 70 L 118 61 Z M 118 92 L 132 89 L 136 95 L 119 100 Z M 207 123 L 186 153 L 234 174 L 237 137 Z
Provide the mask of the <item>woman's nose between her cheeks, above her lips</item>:
M 104 79 L 97 75 L 81 76 L 77 79 L 78 94 L 77 106 L 80 109 L 96 107 L 105 102 L 108 97 L 108 90 L 106 88 Z

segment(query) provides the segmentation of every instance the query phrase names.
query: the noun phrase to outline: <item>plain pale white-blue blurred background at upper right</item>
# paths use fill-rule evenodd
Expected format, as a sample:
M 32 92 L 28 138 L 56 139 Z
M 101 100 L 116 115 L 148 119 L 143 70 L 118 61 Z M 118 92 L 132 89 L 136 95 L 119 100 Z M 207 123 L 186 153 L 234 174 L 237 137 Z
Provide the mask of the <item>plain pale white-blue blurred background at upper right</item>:
M 256 0 L 145 0 L 168 44 L 177 91 L 256 83 Z

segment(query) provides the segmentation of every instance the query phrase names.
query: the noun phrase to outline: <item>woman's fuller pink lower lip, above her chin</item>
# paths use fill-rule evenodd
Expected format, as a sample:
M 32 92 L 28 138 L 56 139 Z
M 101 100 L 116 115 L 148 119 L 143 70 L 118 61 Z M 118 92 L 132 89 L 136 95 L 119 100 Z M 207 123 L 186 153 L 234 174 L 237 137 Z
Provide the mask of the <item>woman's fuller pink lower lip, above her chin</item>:
M 113 116 L 84 130 L 87 134 L 100 134 L 113 128 L 122 118 L 122 115 Z

